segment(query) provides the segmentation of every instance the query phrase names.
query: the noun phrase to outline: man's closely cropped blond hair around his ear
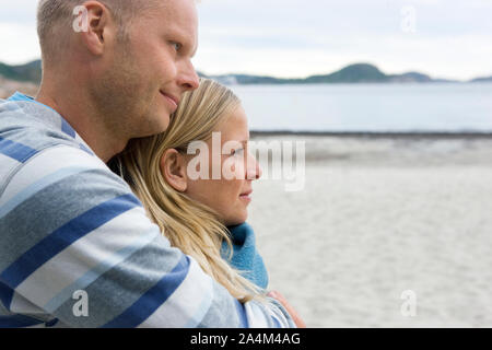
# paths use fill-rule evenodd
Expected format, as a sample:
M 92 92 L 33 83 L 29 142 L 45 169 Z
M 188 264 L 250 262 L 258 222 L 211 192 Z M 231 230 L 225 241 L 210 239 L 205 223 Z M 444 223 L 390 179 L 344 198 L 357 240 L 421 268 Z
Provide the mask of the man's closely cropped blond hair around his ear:
M 155 5 L 156 0 L 96 0 L 104 4 L 119 25 L 119 37 L 125 37 L 126 30 L 136 14 Z M 39 0 L 37 8 L 37 34 L 43 60 L 51 60 L 67 47 L 69 33 L 73 32 L 75 15 L 73 10 L 86 0 Z M 162 2 L 162 0 L 161 0 Z

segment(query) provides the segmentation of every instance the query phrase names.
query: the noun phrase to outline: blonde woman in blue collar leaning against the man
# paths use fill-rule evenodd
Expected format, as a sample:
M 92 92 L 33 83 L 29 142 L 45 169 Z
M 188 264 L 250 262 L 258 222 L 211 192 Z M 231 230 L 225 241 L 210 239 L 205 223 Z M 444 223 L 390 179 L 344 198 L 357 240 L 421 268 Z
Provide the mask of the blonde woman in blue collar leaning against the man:
M 268 283 L 245 223 L 251 182 L 261 176 L 248 140 L 239 100 L 202 79 L 183 96 L 164 133 L 130 141 L 116 160 L 171 244 L 242 302 L 263 298 Z

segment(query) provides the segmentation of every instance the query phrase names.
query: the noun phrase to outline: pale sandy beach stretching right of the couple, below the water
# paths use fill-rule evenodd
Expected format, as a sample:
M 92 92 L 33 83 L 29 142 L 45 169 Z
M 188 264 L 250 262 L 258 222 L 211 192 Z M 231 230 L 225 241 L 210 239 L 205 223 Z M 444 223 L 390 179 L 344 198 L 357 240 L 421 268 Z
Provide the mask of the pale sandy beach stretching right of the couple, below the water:
M 253 140 L 306 142 L 304 189 L 255 183 L 248 222 L 308 327 L 492 327 L 492 137 Z

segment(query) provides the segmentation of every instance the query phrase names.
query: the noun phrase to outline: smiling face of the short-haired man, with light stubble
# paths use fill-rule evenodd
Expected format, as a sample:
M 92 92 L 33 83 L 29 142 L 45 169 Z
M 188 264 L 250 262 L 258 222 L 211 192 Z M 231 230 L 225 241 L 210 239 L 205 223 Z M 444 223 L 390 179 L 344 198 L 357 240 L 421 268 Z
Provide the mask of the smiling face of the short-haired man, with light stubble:
M 165 131 L 181 94 L 198 88 L 191 63 L 198 45 L 194 0 L 165 0 L 137 15 L 108 55 L 98 95 L 112 130 L 137 138 Z M 114 115 L 118 112 L 118 115 Z

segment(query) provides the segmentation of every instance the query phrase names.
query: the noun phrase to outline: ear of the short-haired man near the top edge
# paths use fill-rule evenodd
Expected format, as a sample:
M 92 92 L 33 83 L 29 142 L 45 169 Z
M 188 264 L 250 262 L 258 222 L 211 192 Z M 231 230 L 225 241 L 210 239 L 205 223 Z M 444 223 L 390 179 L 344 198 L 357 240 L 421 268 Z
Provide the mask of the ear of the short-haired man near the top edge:
M 82 43 L 93 55 L 101 56 L 107 43 L 116 38 L 118 27 L 109 10 L 98 1 L 83 4 L 85 11 L 74 20 L 79 25 Z

